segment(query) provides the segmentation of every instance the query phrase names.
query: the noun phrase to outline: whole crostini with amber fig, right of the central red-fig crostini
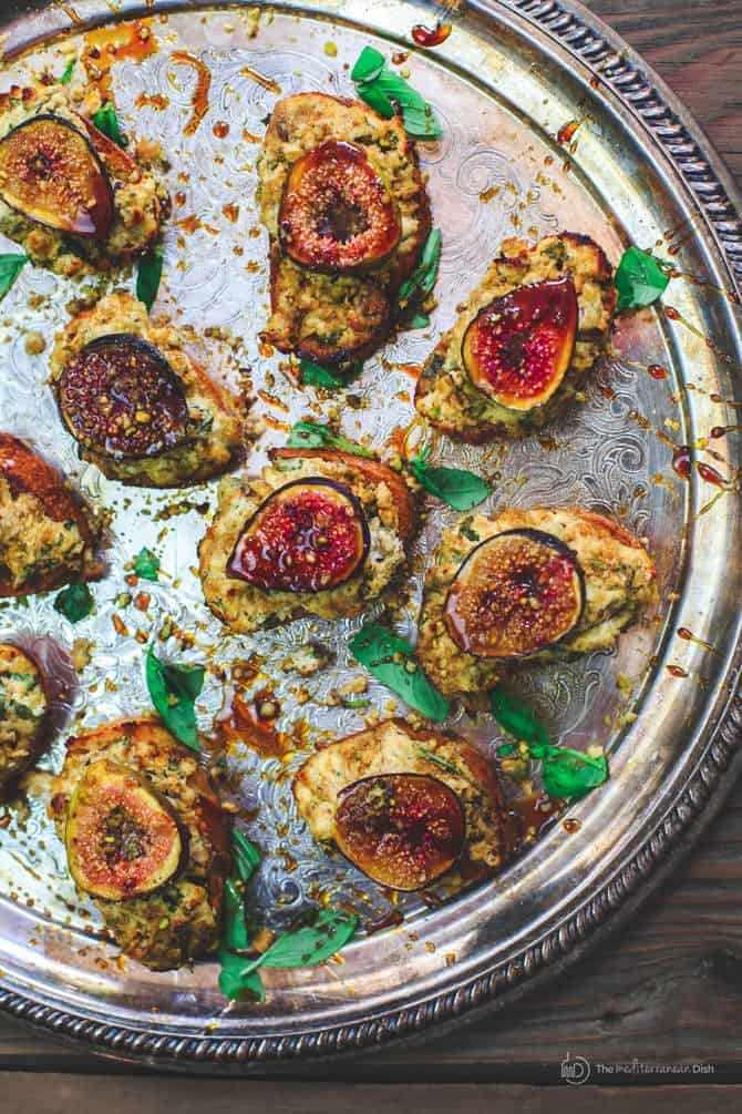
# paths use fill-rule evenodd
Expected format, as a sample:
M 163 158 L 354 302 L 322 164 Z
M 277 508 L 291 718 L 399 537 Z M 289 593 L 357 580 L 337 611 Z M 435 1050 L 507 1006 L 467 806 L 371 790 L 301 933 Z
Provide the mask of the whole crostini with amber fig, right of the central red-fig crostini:
M 477 693 L 518 662 L 613 649 L 656 598 L 649 553 L 603 515 L 474 515 L 443 534 L 417 654 L 444 695 Z

